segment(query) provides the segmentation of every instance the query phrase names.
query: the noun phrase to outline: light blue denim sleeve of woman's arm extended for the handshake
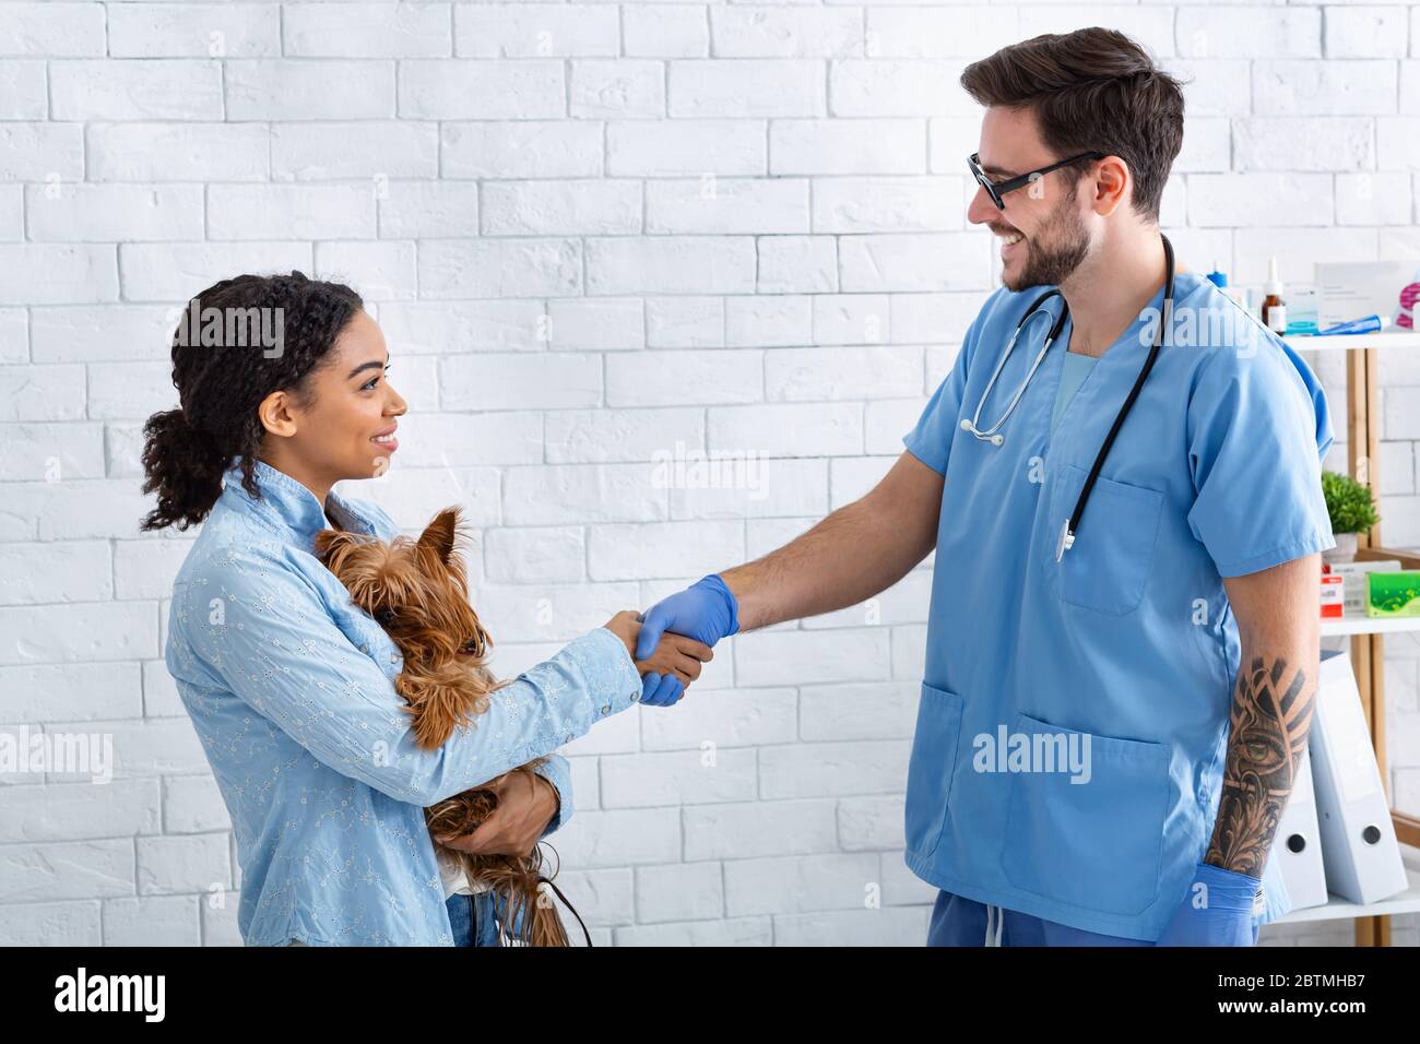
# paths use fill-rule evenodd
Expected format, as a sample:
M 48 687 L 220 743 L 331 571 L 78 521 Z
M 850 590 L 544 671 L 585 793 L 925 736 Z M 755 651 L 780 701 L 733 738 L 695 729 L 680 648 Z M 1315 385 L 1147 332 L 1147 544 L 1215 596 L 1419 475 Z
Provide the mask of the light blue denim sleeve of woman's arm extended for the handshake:
M 477 787 L 640 696 L 628 639 L 595 628 L 497 689 L 471 727 L 423 750 L 395 690 L 395 665 L 352 645 L 308 578 L 253 548 L 223 555 L 175 595 L 175 655 L 190 656 L 189 672 L 210 675 L 213 689 L 230 689 L 311 756 L 396 800 L 432 805 Z

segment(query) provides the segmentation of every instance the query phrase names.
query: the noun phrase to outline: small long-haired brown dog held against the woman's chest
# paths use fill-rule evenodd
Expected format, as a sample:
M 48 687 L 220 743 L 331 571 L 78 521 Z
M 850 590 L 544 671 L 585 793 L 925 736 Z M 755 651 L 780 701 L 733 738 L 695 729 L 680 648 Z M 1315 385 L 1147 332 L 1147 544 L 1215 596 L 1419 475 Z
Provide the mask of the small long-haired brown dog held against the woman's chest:
M 415 741 L 426 750 L 437 749 L 456 727 L 471 726 L 487 709 L 488 695 L 501 687 L 486 666 L 493 642 L 469 604 L 463 543 L 456 507 L 435 516 L 417 540 L 396 537 L 386 544 L 344 530 L 315 535 L 315 555 L 403 653 L 395 689 L 415 719 Z M 531 774 L 540 764 L 542 758 L 511 773 Z M 470 834 L 497 804 L 491 790 L 469 790 L 426 808 L 425 821 L 433 835 Z M 538 848 L 524 858 L 447 851 L 459 857 L 470 882 L 487 882 L 501 896 L 504 933 L 513 936 L 517 925 L 523 943 L 569 945 L 557 909 L 538 888 L 548 879 Z

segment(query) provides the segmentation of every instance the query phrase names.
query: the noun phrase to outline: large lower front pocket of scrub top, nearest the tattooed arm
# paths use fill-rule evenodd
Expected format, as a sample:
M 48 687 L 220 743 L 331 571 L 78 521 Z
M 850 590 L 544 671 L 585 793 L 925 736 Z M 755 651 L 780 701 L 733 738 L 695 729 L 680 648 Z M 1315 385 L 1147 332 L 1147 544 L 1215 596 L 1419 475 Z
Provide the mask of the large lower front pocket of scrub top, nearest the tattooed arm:
M 1133 916 L 1154 903 L 1169 811 L 1169 744 L 1122 740 L 1017 714 L 1014 733 L 1081 751 L 1083 771 L 1011 774 L 1001 871 L 1055 902 Z M 1056 756 L 1056 764 L 1061 764 Z M 1074 780 L 1079 778 L 1079 783 Z

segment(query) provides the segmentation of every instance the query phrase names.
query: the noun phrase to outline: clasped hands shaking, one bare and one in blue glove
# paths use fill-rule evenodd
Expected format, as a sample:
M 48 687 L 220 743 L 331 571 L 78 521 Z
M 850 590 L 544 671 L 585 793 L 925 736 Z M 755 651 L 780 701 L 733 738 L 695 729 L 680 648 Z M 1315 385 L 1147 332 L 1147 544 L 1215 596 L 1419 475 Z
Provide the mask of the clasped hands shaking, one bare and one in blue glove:
M 700 678 L 714 658 L 711 646 L 740 629 L 740 607 L 730 588 L 711 574 L 670 595 L 642 615 L 618 612 L 604 625 L 626 643 L 640 672 L 640 702 L 665 707 Z

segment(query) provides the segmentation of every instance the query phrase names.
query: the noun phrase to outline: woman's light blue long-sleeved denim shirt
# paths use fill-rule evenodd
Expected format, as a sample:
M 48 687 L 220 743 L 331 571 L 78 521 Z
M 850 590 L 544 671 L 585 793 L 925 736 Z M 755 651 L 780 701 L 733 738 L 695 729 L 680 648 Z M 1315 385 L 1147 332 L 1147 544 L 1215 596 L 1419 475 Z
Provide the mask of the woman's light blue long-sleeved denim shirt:
M 616 635 L 596 628 L 497 690 L 473 727 L 415 746 L 399 649 L 314 557 L 327 528 L 305 486 L 233 466 L 173 585 L 168 669 L 231 815 L 248 946 L 452 946 L 423 808 L 551 754 L 640 697 Z M 327 510 L 382 540 L 399 527 L 331 493 Z M 567 760 L 542 774 L 572 814 Z

